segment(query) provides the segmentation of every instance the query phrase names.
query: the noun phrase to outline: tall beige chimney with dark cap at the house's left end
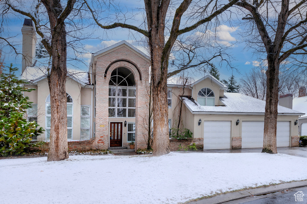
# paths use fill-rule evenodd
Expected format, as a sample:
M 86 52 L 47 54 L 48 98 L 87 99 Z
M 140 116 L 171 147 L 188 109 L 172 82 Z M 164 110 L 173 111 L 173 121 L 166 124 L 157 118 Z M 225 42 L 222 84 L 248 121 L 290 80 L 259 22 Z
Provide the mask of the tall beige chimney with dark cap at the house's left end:
M 36 35 L 31 19 L 25 19 L 22 33 L 22 63 L 21 74 L 27 66 L 33 66 L 35 59 Z

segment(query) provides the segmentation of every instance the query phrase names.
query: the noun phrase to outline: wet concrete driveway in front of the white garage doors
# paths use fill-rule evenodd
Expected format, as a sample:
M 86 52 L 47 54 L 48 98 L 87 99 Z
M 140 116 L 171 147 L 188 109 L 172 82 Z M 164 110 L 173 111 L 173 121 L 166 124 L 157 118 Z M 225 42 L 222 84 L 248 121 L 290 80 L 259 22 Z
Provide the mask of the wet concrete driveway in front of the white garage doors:
M 262 148 L 204 150 L 205 153 L 255 153 L 261 151 Z M 277 152 L 307 158 L 307 147 L 278 147 Z

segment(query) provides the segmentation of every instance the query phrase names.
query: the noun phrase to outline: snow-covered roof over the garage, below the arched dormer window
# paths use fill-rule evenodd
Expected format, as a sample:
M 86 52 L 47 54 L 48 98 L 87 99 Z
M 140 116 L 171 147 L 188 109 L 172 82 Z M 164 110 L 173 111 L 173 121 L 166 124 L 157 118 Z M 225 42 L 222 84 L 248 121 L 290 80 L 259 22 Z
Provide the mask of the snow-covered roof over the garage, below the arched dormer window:
M 193 98 L 186 97 L 183 97 L 183 101 L 193 114 L 264 115 L 266 105 L 263 100 L 241 93 L 224 93 L 224 97 L 220 97 L 220 101 L 225 106 L 201 106 Z M 303 115 L 301 112 L 282 106 L 278 106 L 278 114 Z

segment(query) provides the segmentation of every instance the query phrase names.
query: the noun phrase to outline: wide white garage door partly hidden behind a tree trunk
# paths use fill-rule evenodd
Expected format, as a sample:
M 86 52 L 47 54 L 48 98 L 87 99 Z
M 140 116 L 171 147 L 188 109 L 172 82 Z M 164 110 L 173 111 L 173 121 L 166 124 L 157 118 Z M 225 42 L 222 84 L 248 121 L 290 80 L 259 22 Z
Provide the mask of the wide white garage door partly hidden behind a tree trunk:
M 242 122 L 242 148 L 263 147 L 264 121 Z M 277 147 L 289 147 L 290 122 L 278 121 L 276 133 Z

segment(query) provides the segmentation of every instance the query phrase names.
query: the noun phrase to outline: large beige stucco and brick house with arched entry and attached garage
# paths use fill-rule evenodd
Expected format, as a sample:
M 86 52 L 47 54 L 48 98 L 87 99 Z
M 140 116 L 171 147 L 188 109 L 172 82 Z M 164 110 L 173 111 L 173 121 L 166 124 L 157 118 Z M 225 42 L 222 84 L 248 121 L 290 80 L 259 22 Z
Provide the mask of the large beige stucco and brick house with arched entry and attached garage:
M 33 102 L 27 117 L 37 120 L 50 135 L 50 95 L 47 59 L 35 59 L 35 34 L 25 21 L 22 76 L 35 91 L 25 93 Z M 126 41 L 91 55 L 88 73 L 70 70 L 67 81 L 68 145 L 86 149 L 145 148 L 148 135 L 150 59 Z M 187 86 L 167 85 L 169 128 L 177 126 L 180 102 L 182 124 L 193 133 L 188 141 L 170 139 L 172 150 L 179 144 L 196 143 L 204 149 L 262 147 L 265 102 L 240 93 L 224 93 L 227 87 L 210 74 Z M 184 91 L 184 93 L 183 93 Z M 278 106 L 277 146 L 297 146 L 294 122 L 301 112 Z M 148 125 L 147 125 L 148 126 Z M 153 127 L 154 128 L 154 127 Z M 129 147 L 128 147 L 129 148 Z

